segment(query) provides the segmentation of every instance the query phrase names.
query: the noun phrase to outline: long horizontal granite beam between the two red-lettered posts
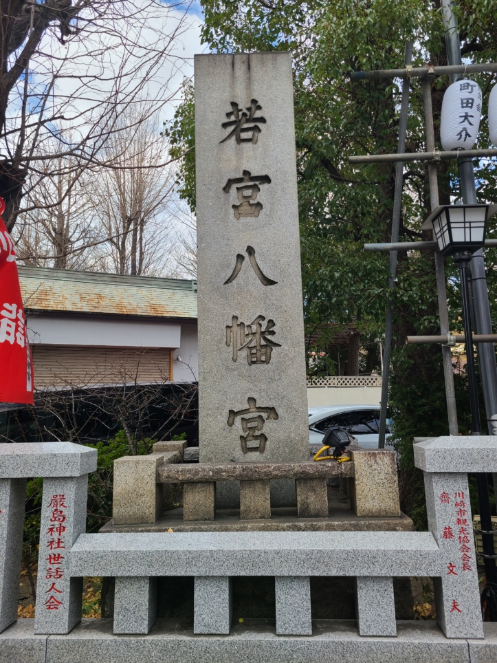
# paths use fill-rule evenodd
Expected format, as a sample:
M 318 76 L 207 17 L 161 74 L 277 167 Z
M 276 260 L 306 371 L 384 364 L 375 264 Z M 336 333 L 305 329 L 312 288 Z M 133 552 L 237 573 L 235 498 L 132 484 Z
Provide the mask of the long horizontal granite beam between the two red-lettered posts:
M 441 576 L 430 532 L 81 534 L 71 576 Z M 188 560 L 188 564 L 185 563 Z

